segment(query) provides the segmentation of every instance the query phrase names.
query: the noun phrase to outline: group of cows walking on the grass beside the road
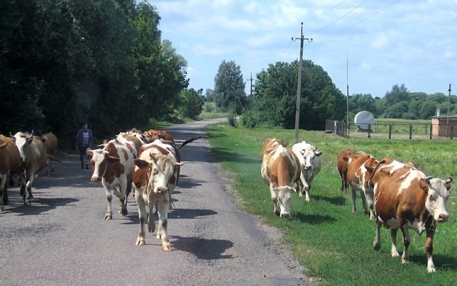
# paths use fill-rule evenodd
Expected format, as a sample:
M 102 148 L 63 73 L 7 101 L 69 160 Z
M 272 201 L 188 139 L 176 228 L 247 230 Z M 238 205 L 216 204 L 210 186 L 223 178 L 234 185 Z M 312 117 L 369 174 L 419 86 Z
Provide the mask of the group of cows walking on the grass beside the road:
M 262 177 L 270 186 L 274 213 L 287 217 L 292 192 L 309 201 L 310 183 L 319 172 L 321 152 L 305 141 L 287 148 L 280 139 L 267 139 L 262 148 Z M 409 229 L 427 233 L 425 251 L 427 270 L 435 272 L 433 236 L 436 222 L 447 221 L 446 203 L 452 178 L 426 176 L 413 163 L 401 163 L 386 157 L 381 161 L 364 152 L 343 150 L 337 158 L 341 190 L 352 190 L 352 212 L 355 213 L 356 192 L 360 192 L 364 212 L 376 221 L 373 248 L 381 246 L 381 225 L 390 228 L 391 256 L 398 257 L 397 232 L 403 233 L 402 263 L 409 260 Z M 368 205 L 368 207 L 367 207 Z

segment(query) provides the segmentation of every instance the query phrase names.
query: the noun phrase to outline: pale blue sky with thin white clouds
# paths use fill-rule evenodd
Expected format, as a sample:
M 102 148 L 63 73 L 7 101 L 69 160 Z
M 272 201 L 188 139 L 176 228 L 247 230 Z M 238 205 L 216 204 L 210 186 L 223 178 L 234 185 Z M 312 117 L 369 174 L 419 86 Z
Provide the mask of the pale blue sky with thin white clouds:
M 247 81 L 270 63 L 300 56 L 328 72 L 346 94 L 383 97 L 394 84 L 409 91 L 457 91 L 457 0 L 152 1 L 162 39 L 188 63 L 189 87 L 214 88 L 222 60 Z M 304 83 L 306 84 L 306 83 Z M 246 82 L 249 93 L 249 82 Z M 451 92 L 455 94 L 456 92 Z

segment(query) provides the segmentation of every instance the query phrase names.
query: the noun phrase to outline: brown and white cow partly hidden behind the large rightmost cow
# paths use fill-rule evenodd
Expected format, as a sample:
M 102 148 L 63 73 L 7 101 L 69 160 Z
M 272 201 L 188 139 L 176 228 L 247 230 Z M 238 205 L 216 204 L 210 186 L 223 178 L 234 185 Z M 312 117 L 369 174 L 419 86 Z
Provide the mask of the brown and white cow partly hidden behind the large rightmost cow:
M 348 153 L 346 152 L 346 154 Z M 372 155 L 364 152 L 356 152 L 347 156 L 347 181 L 345 184 L 351 186 L 352 213 L 355 213 L 355 199 L 357 198 L 356 191 L 358 190 L 360 191 L 364 213 L 370 214 L 370 219 L 375 219 L 375 214 L 373 211 L 373 194 L 368 186 L 368 180 L 378 163 L 379 162 Z M 338 165 L 340 165 L 340 163 L 338 163 Z M 344 166 L 344 163 L 341 165 Z M 369 208 L 367 208 L 367 204 Z

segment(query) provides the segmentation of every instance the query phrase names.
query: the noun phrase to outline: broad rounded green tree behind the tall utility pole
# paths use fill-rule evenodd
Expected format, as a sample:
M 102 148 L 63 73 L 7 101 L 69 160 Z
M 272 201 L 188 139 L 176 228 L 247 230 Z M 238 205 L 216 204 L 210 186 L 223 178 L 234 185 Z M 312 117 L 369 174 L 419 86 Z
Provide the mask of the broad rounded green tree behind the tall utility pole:
M 253 94 L 254 125 L 293 128 L 297 94 L 298 61 L 277 62 L 257 74 Z M 322 67 L 303 62 L 300 128 L 323 130 L 325 119 L 342 119 L 345 98 Z

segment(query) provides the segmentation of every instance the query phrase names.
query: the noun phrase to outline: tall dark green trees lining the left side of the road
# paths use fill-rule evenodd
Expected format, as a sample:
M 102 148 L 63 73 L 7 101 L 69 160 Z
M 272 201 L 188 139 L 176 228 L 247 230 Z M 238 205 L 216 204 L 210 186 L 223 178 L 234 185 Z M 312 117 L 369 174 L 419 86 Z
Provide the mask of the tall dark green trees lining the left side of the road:
M 52 131 L 69 145 L 84 121 L 103 138 L 188 112 L 197 92 L 159 22 L 147 1 L 0 2 L 0 132 Z

